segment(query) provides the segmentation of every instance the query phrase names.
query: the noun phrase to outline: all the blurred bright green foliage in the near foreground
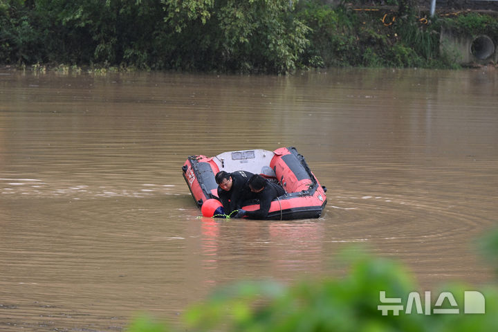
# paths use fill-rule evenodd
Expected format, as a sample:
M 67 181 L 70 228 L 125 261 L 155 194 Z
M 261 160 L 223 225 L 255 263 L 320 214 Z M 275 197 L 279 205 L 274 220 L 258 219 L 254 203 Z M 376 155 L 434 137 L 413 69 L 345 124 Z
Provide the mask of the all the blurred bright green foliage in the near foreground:
M 479 241 L 483 252 L 498 268 L 498 232 Z M 485 314 L 461 312 L 424 315 L 400 311 L 382 315 L 380 291 L 407 304 L 417 291 L 413 278 L 400 265 L 365 254 L 349 255 L 351 268 L 345 277 L 322 278 L 284 286 L 277 282 L 239 282 L 216 290 L 205 302 L 195 304 L 185 319 L 187 331 L 237 332 L 488 332 L 498 328 L 498 288 L 480 290 L 486 300 Z M 352 258 L 351 258 L 352 257 Z M 472 286 L 456 284 L 441 288 L 450 292 L 461 308 L 465 291 Z M 421 291 L 419 292 L 421 293 Z M 432 305 L 436 298 L 432 299 Z M 447 301 L 448 302 L 448 301 Z M 448 303 L 443 308 L 450 308 Z M 140 317 L 130 332 L 166 332 L 164 324 Z

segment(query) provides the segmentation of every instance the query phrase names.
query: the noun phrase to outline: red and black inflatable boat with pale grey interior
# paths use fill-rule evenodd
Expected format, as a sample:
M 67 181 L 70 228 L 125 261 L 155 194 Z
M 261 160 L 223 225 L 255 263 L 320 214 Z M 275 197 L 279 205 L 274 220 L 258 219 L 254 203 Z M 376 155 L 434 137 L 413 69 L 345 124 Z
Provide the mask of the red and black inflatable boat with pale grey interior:
M 294 147 L 275 151 L 262 149 L 224 152 L 214 157 L 190 156 L 182 167 L 183 177 L 201 208 L 208 199 L 217 199 L 214 176 L 219 171 L 247 171 L 278 181 L 286 194 L 274 199 L 266 219 L 318 218 L 326 204 L 326 188 L 311 172 L 304 157 Z M 243 210 L 259 209 L 257 201 Z

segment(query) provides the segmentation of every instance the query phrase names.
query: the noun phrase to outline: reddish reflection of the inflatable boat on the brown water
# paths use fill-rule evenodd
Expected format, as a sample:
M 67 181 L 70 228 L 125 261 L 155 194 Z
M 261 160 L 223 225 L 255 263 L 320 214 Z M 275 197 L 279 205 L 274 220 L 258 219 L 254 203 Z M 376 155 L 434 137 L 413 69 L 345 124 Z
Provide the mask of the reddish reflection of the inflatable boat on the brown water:
M 244 270 L 244 279 L 292 280 L 296 275 L 316 273 L 326 265 L 322 261 L 324 225 L 321 221 L 275 221 L 261 225 L 258 221 L 240 223 L 203 217 L 201 222 L 202 267 L 215 270 L 216 274 L 216 278 L 205 282 L 216 283 L 216 279 L 226 277 L 226 270 L 230 270 L 234 262 L 239 264 L 237 270 Z M 230 266 L 221 268 L 223 264 Z M 258 270 L 254 270 L 256 266 Z

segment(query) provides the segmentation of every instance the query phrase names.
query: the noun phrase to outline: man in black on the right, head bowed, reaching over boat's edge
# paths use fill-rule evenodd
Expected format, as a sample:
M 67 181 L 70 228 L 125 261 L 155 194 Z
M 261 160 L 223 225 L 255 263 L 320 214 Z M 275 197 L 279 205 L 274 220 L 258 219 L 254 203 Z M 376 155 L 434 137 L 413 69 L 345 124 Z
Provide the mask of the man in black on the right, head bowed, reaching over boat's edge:
M 248 187 L 255 198 L 259 200 L 259 210 L 246 211 L 239 209 L 236 218 L 247 216 L 250 219 L 265 219 L 268 216 L 273 199 L 285 194 L 284 188 L 278 183 L 270 182 L 259 174 L 251 176 L 248 181 Z

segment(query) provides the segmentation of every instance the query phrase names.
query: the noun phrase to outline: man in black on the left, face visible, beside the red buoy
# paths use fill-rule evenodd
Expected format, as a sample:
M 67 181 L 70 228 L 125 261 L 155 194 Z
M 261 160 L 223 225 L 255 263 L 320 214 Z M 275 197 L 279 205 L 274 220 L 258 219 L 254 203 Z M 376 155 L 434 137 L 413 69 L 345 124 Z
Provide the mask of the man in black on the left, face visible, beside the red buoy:
M 254 196 L 247 185 L 249 178 L 253 175 L 246 171 L 216 173 L 214 179 L 218 183 L 218 197 L 223 204 L 225 214 L 240 209 L 243 201 Z

